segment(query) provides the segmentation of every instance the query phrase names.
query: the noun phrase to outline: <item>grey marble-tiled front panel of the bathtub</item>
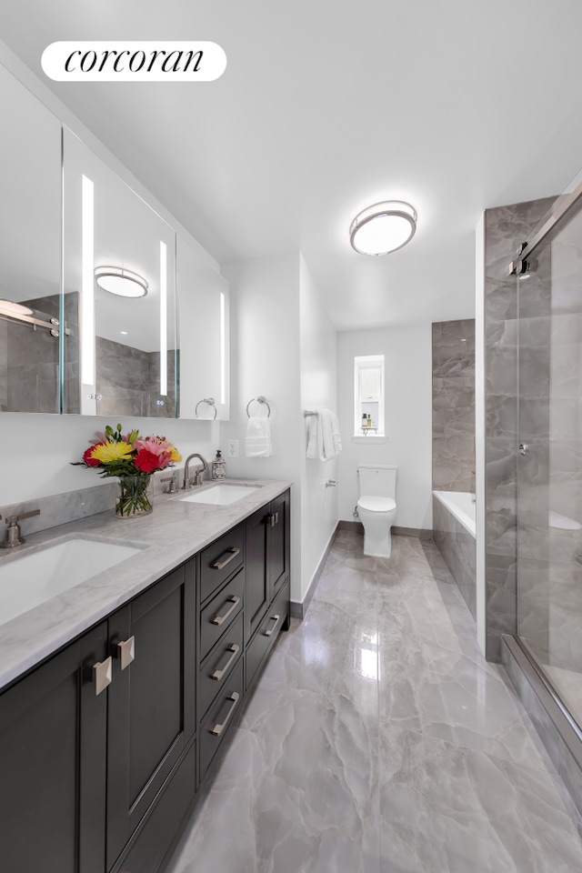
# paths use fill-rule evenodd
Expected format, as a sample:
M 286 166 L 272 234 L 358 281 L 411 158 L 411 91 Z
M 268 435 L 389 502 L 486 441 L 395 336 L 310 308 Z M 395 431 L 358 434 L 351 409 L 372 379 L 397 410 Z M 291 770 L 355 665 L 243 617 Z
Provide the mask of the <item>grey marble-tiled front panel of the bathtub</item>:
M 471 615 L 477 619 L 477 540 L 433 497 L 433 539 Z

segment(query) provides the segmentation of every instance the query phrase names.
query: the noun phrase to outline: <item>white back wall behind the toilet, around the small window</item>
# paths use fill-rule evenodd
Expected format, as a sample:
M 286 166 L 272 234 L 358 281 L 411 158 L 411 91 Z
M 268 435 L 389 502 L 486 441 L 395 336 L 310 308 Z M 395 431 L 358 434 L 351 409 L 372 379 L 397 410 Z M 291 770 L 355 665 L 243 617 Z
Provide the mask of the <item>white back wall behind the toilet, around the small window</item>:
M 384 355 L 386 442 L 354 442 L 354 357 Z M 432 528 L 432 326 L 429 322 L 337 335 L 339 517 L 353 521 L 358 464 L 396 464 L 396 525 Z

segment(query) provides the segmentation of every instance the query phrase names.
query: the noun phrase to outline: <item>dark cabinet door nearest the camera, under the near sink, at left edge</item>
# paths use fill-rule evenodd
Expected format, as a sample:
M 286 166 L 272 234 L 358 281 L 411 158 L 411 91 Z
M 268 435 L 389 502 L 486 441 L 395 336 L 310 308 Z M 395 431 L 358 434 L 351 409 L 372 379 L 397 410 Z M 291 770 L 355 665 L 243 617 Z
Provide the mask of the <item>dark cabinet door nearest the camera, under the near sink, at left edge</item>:
M 106 623 L 0 695 L 0 867 L 103 873 Z

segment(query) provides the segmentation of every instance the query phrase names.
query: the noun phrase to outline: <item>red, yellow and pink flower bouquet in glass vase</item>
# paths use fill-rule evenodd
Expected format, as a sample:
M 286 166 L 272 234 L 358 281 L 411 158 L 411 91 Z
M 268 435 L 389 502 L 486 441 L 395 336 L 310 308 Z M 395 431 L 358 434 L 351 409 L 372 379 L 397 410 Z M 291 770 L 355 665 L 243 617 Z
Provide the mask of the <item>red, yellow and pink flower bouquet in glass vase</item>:
M 115 515 L 133 518 L 152 511 L 152 474 L 181 460 L 182 456 L 166 437 L 140 437 L 138 430 L 122 434 L 121 425 L 115 430 L 107 425 L 75 466 L 94 467 L 102 477 L 119 477 L 120 495 Z

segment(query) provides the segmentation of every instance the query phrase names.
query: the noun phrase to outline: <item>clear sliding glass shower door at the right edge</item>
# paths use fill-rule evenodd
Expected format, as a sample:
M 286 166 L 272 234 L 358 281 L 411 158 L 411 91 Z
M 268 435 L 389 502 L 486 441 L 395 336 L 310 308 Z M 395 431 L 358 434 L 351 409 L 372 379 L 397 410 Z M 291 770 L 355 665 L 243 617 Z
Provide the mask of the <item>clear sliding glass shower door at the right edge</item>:
M 517 635 L 582 726 L 582 199 L 538 238 L 517 293 Z

